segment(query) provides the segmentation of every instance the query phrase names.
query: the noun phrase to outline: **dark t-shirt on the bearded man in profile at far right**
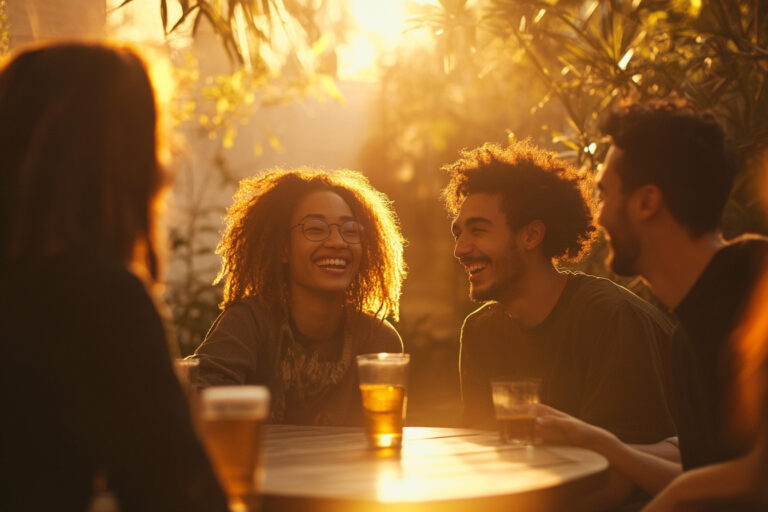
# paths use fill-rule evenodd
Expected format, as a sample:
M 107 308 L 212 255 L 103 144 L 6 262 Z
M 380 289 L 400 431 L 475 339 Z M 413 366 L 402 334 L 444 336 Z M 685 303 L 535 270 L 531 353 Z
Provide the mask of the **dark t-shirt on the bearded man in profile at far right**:
M 731 242 L 675 309 L 680 326 L 668 363 L 669 395 L 686 470 L 734 459 L 749 449 L 729 432 L 737 362 L 728 341 L 759 282 L 766 254 L 768 239 Z

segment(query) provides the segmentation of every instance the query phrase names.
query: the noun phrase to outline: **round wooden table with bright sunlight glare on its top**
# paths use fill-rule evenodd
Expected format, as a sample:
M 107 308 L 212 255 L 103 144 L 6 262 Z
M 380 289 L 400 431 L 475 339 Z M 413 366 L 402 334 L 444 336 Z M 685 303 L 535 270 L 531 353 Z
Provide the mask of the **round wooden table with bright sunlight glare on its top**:
M 565 446 L 514 448 L 496 432 L 410 427 L 400 453 L 362 429 L 270 425 L 263 512 L 568 510 L 608 462 Z

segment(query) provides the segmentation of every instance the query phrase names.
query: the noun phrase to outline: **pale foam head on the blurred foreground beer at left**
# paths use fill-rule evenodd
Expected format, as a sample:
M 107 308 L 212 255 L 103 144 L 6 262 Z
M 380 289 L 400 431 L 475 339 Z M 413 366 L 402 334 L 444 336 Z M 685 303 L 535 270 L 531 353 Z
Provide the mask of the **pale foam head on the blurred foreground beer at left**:
M 269 389 L 265 386 L 214 386 L 201 394 L 206 418 L 257 418 L 269 414 Z

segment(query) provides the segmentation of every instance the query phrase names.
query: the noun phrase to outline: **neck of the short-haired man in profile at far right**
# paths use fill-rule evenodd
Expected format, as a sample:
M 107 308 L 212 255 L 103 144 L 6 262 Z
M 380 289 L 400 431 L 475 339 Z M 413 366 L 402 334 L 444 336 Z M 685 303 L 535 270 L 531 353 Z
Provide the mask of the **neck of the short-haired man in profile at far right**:
M 712 257 L 724 245 L 720 233 L 698 238 L 687 231 L 659 237 L 638 265 L 654 295 L 668 308 L 675 309 L 691 291 Z

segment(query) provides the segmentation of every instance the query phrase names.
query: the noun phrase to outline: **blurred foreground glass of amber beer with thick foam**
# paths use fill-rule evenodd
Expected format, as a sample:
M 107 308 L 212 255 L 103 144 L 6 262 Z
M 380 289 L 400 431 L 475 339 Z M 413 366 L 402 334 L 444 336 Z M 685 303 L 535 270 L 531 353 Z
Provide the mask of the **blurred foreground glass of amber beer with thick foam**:
M 201 395 L 201 427 L 208 455 L 232 512 L 254 512 L 263 471 L 261 426 L 269 413 L 264 386 L 219 386 Z

